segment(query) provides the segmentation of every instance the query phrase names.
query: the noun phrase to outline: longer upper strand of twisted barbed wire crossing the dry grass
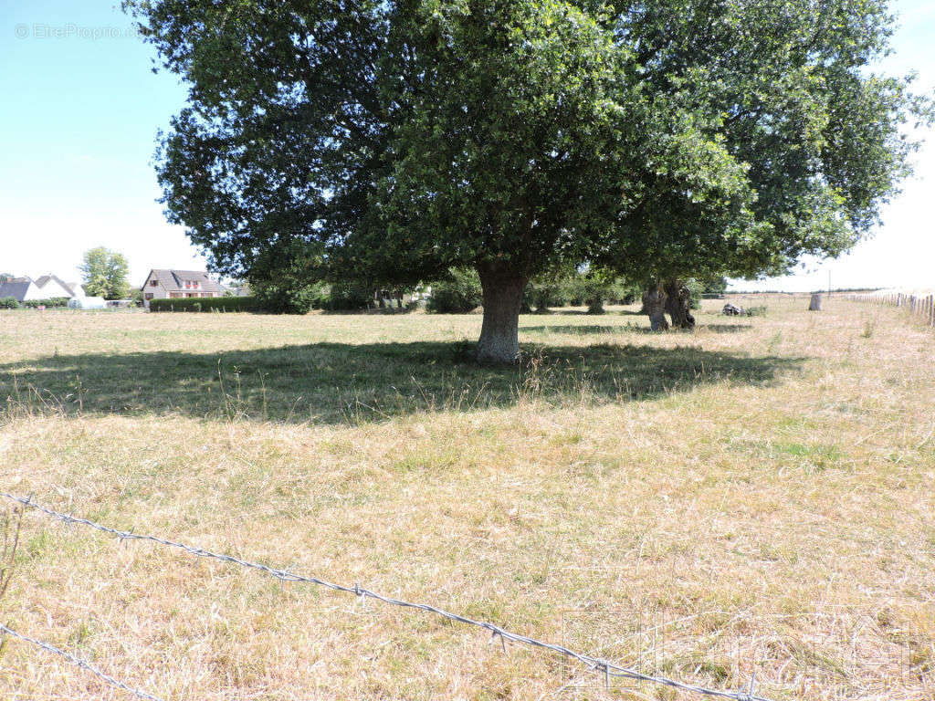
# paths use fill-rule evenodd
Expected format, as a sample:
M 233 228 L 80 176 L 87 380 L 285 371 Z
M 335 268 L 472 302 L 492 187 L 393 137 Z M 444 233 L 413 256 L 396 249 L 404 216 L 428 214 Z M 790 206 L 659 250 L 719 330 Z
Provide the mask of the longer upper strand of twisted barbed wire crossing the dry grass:
M 326 579 L 320 579 L 318 577 L 307 577 L 304 575 L 295 574 L 295 572 L 290 572 L 286 569 L 278 569 L 276 567 L 270 567 L 269 565 L 262 565 L 260 563 L 253 563 L 249 560 L 242 560 L 233 555 L 226 555 L 219 552 L 212 552 L 205 550 L 204 548 L 199 548 L 193 545 L 186 545 L 185 543 L 175 542 L 173 540 L 167 540 L 159 536 L 147 536 L 132 531 L 120 531 L 116 528 L 110 528 L 109 526 L 102 525 L 88 519 L 82 519 L 77 516 L 71 516 L 69 514 L 61 513 L 55 511 L 51 508 L 43 507 L 40 504 L 37 504 L 32 500 L 31 497 L 22 497 L 15 496 L 14 494 L 7 494 L 6 492 L 0 492 L 0 496 L 11 499 L 12 501 L 18 502 L 25 507 L 36 509 L 41 513 L 44 513 L 47 516 L 50 516 L 53 519 L 56 519 L 65 523 L 79 523 L 81 525 L 89 526 L 94 528 L 94 530 L 100 531 L 101 533 L 107 533 L 111 536 L 123 540 L 148 540 L 159 545 L 166 546 L 168 548 L 175 548 L 180 551 L 188 552 L 189 554 L 194 555 L 195 557 L 205 557 L 214 560 L 219 560 L 224 563 L 231 563 L 233 565 L 240 565 L 241 567 L 246 567 L 248 569 L 258 570 L 264 572 L 270 577 L 276 579 L 281 579 L 282 581 L 295 581 L 301 582 L 304 584 L 315 584 L 317 586 L 322 586 L 327 589 L 331 589 L 335 592 L 343 592 L 345 594 L 354 594 L 355 596 L 361 598 L 371 598 L 381 601 L 384 604 L 389 604 L 391 606 L 397 606 L 401 608 L 413 608 L 416 610 L 425 611 L 428 613 L 434 613 L 444 619 L 453 622 L 465 623 L 466 625 L 473 625 L 479 628 L 483 628 L 491 634 L 491 639 L 500 638 L 501 643 L 506 647 L 505 641 L 509 640 L 514 643 L 519 643 L 522 645 L 527 645 L 533 648 L 539 648 L 542 650 L 548 650 L 555 652 L 556 654 L 563 655 L 572 660 L 577 661 L 578 663 L 586 666 L 591 671 L 603 674 L 605 683 L 607 686 L 610 686 L 611 678 L 616 679 L 628 679 L 636 681 L 645 681 L 647 683 L 659 684 L 662 686 L 668 686 L 673 689 L 678 689 L 683 692 L 690 692 L 694 694 L 701 694 L 706 696 L 718 697 L 718 698 L 729 698 L 734 699 L 735 701 L 770 701 L 769 698 L 764 696 L 755 695 L 755 674 L 750 680 L 750 686 L 747 691 L 722 691 L 718 689 L 709 689 L 707 687 L 698 686 L 696 684 L 688 684 L 679 680 L 672 680 L 667 677 L 660 677 L 651 674 L 643 674 L 642 672 L 633 669 L 632 667 L 626 667 L 622 665 L 617 665 L 610 662 L 609 660 L 604 660 L 599 657 L 593 657 L 591 655 L 584 654 L 582 652 L 576 652 L 570 650 L 562 645 L 556 645 L 555 643 L 550 643 L 544 640 L 539 640 L 535 637 L 527 637 L 520 635 L 518 633 L 512 633 L 511 631 L 506 630 L 505 628 L 496 625 L 496 623 L 487 622 L 487 621 L 475 621 L 470 619 L 467 616 L 462 616 L 451 611 L 447 611 L 444 608 L 439 608 L 432 606 L 431 604 L 420 604 L 411 601 L 406 601 L 404 599 L 396 599 L 391 596 L 384 596 L 383 594 L 378 594 L 369 589 L 361 587 L 358 583 L 354 583 L 353 586 L 348 586 L 345 584 L 336 584 Z

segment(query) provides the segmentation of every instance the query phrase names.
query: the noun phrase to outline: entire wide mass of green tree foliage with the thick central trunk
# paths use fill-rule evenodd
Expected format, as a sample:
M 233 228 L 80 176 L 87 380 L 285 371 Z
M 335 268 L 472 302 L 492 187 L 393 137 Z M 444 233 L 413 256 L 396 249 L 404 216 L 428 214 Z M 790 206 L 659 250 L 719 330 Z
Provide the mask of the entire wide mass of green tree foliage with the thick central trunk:
M 215 268 L 473 266 L 483 360 L 516 357 L 526 281 L 556 265 L 752 276 L 846 250 L 928 117 L 870 72 L 885 0 L 125 7 L 189 85 L 158 172 Z

